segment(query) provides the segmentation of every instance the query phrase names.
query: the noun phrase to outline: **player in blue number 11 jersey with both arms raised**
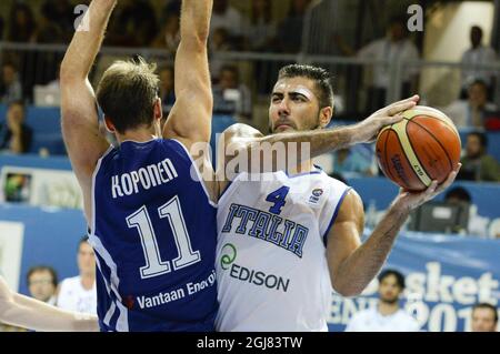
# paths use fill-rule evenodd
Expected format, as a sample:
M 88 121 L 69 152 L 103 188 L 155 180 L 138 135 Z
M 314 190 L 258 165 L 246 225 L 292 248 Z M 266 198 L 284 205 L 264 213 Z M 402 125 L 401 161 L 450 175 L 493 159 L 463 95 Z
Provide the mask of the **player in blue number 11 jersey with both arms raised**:
M 120 332 L 212 331 L 217 185 L 202 181 L 193 164 L 199 156 L 189 153 L 210 139 L 212 1 L 182 1 L 177 102 L 163 131 L 159 80 L 143 60 L 113 63 L 97 94 L 89 83 L 116 2 L 91 2 L 82 21 L 88 29 L 76 32 L 60 73 L 62 133 L 99 270 L 99 325 Z M 97 103 L 119 146 L 99 133 Z

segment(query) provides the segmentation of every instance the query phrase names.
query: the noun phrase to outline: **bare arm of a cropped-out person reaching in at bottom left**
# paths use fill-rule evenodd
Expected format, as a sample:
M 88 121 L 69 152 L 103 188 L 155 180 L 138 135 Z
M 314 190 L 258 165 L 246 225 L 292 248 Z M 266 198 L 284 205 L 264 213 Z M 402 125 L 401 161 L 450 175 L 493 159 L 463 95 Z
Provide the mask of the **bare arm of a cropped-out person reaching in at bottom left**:
M 46 332 L 99 331 L 97 316 L 60 310 L 14 293 L 2 276 L 0 276 L 0 322 Z

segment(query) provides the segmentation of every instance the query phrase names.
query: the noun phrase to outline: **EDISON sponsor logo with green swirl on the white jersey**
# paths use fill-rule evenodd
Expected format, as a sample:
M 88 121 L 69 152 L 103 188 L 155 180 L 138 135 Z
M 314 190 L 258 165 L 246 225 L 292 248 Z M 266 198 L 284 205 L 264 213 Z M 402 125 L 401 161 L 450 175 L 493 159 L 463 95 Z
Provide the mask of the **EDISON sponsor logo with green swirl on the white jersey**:
M 264 286 L 270 290 L 282 291 L 286 293 L 290 286 L 290 279 L 269 274 L 260 270 L 253 270 L 236 263 L 238 256 L 237 247 L 227 243 L 222 247 L 220 266 L 234 280 L 247 282 L 257 286 Z

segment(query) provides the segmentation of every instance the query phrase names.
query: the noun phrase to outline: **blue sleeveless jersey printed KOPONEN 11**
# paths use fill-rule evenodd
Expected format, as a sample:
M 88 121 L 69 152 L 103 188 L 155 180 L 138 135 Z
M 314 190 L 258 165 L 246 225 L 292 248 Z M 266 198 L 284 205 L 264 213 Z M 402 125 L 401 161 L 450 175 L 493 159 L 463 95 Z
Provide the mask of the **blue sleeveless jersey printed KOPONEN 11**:
M 102 331 L 213 330 L 216 205 L 174 140 L 123 142 L 99 161 L 89 241 Z

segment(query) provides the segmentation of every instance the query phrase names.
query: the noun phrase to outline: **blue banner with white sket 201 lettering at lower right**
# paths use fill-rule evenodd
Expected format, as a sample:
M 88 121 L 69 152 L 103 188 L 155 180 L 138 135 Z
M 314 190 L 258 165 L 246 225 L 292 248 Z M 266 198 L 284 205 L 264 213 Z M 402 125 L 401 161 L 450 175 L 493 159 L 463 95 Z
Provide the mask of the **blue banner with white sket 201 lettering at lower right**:
M 399 236 L 383 269 L 406 275 L 401 305 L 421 331 L 470 330 L 471 309 L 478 302 L 500 300 L 500 241 L 450 235 L 406 233 Z M 330 331 L 341 332 L 358 311 L 374 307 L 378 282 L 358 297 L 333 295 Z

